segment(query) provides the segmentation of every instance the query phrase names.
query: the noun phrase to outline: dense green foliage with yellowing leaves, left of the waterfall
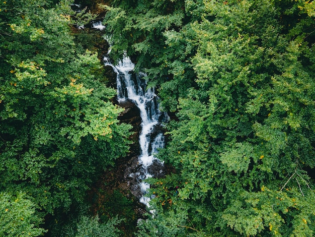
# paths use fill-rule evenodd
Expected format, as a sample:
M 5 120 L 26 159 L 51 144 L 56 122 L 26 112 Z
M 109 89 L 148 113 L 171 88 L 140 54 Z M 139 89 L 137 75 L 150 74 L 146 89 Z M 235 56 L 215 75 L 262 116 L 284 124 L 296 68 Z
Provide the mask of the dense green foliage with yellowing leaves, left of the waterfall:
M 0 9 L 0 191 L 25 193 L 31 228 L 36 216 L 84 202 L 128 152 L 130 126 L 117 120 L 122 108 L 97 53 L 74 44 L 70 26 L 92 15 L 75 21 L 70 1 L 5 1 Z

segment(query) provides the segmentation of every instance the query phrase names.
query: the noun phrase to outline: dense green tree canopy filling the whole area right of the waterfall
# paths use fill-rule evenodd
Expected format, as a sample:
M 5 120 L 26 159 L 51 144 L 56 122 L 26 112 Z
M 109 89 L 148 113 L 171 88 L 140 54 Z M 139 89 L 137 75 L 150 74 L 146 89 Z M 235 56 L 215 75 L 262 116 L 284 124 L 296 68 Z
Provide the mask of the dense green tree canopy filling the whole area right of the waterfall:
M 134 56 L 177 116 L 159 153 L 177 174 L 152 181 L 157 217 L 139 234 L 312 235 L 313 2 L 114 1 L 108 10 L 113 53 Z

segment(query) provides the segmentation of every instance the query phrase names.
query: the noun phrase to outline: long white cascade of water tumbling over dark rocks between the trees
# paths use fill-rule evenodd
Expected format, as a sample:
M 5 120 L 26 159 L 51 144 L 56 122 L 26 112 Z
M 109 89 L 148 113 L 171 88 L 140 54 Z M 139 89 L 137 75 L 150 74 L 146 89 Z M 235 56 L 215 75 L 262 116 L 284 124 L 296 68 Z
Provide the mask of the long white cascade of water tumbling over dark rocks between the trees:
M 145 183 L 144 180 L 155 175 L 151 172 L 151 170 L 154 170 L 152 166 L 163 166 L 163 162 L 154 157 L 154 154 L 159 148 L 164 147 L 164 135 L 161 131 L 159 132 L 159 127 L 162 122 L 168 120 L 168 115 L 159 110 L 154 89 L 150 88 L 146 90 L 146 82 L 142 79 L 144 75 L 133 73 L 134 64 L 129 57 L 124 57 L 116 66 L 109 62 L 108 57 L 104 57 L 104 64 L 105 66 L 111 66 L 117 74 L 118 102 L 121 103 L 130 100 L 140 110 L 141 132 L 139 135 L 139 145 L 141 151 L 138 161 L 141 164 L 141 170 L 130 173 L 129 175 L 137 176 L 138 186 L 142 193 L 139 201 L 149 207 L 148 202 L 150 198 L 144 196 L 149 188 L 149 184 Z

